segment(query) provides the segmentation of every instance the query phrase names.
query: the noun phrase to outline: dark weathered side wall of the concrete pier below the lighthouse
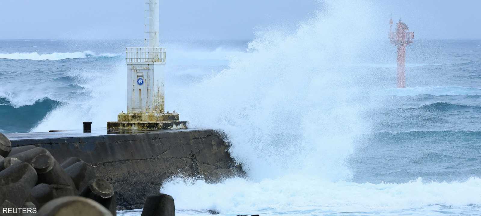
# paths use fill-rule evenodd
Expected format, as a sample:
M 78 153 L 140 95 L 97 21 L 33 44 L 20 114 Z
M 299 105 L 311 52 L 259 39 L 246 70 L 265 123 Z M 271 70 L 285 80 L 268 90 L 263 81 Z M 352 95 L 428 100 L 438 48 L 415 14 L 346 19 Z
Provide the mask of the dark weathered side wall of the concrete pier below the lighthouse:
M 75 156 L 92 165 L 114 187 L 118 209 L 142 208 L 147 195 L 179 174 L 207 182 L 245 174 L 213 130 L 12 140 L 13 147 L 24 145 L 44 147 L 60 163 Z

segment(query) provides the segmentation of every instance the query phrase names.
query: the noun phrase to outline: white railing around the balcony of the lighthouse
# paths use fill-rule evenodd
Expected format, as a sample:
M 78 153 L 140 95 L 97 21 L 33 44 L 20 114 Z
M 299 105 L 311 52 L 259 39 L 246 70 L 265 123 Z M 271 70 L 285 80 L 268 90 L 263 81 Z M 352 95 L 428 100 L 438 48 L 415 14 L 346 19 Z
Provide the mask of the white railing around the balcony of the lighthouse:
M 127 63 L 161 62 L 165 63 L 165 48 L 160 47 L 127 47 Z

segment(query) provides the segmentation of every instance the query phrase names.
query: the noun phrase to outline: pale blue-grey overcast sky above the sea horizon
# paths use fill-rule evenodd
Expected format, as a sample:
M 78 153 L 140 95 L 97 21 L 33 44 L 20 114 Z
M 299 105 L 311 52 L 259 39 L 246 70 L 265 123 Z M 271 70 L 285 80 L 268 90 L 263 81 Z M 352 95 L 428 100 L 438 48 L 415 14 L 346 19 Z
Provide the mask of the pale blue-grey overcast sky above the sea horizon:
M 269 26 L 322 11 L 318 0 L 160 0 L 161 38 L 252 39 Z M 481 0 L 380 0 L 373 12 L 399 17 L 417 38 L 481 38 Z M 385 18 L 384 18 L 385 16 Z M 139 31 L 137 31 L 139 30 Z M 0 0 L 0 39 L 143 38 L 143 0 Z M 385 35 L 382 35 L 383 37 Z

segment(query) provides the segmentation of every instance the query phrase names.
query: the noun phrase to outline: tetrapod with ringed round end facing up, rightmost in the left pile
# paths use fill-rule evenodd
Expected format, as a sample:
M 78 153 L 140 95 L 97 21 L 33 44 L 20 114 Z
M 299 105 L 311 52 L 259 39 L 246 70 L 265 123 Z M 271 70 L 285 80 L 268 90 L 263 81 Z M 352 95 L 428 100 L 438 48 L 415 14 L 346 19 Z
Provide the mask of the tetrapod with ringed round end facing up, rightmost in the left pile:
M 109 209 L 113 216 L 117 215 L 117 201 L 115 199 L 114 188 L 108 181 L 103 179 L 91 180 L 88 186 L 80 193 L 80 196 L 97 201 Z

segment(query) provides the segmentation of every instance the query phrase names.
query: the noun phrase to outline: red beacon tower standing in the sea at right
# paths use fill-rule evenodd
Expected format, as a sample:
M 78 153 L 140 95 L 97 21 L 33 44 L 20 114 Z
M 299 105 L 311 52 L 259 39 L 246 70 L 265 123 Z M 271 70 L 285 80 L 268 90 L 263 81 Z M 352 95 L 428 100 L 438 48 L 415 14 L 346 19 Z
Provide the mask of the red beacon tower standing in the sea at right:
M 408 32 L 409 28 L 401 19 L 396 24 L 396 31 L 392 32 L 392 18 L 389 21 L 389 41 L 397 47 L 397 87 L 406 87 L 406 46 L 413 42 L 414 32 Z

